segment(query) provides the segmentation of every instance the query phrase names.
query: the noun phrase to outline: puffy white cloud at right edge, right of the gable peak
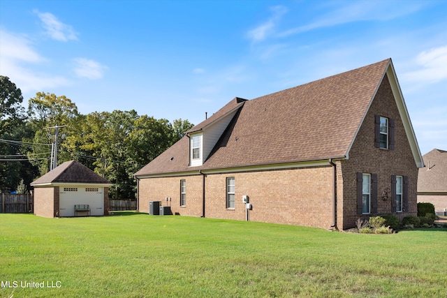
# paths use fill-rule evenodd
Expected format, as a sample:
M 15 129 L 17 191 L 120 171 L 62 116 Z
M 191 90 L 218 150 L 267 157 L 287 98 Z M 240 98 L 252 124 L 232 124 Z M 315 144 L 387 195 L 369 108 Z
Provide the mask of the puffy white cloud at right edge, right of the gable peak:
M 420 52 L 414 60 L 420 69 L 404 73 L 404 80 L 437 83 L 447 79 L 447 45 Z

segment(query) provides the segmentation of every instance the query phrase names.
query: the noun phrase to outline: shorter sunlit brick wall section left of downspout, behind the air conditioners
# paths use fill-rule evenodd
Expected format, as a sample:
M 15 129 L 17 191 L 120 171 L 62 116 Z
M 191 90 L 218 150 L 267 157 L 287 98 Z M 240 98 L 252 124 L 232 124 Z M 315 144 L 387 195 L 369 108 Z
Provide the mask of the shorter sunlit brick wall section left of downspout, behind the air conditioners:
M 180 180 L 186 180 L 186 206 L 180 206 Z M 173 214 L 202 216 L 203 213 L 203 177 L 202 175 L 182 177 L 161 177 L 141 179 L 139 182 L 138 211 L 149 213 L 150 201 L 161 201 L 170 206 Z M 166 202 L 166 198 L 171 198 Z

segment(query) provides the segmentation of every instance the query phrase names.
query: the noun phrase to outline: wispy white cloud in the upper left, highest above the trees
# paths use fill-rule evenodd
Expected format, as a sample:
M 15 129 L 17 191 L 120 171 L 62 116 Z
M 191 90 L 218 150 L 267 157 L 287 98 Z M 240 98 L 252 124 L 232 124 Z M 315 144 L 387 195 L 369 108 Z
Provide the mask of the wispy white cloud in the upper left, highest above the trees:
M 41 13 L 38 10 L 35 10 L 34 13 L 43 22 L 45 33 L 50 38 L 59 41 L 78 40 L 78 33 L 74 31 L 73 27 L 59 21 L 52 13 Z

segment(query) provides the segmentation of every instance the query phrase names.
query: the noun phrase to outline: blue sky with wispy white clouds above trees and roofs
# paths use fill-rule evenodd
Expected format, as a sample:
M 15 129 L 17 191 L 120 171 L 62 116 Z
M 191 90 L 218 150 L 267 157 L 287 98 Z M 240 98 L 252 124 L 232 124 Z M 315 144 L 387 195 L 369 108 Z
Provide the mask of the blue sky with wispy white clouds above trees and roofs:
M 198 124 L 392 58 L 422 154 L 447 150 L 447 1 L 0 0 L 0 74 L 82 114 Z

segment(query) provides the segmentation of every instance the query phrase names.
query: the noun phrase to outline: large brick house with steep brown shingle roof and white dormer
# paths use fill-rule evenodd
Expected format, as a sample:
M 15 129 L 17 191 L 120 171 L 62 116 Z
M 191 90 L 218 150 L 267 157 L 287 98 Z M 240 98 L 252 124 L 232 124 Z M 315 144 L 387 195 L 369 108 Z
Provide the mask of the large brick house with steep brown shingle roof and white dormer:
M 347 229 L 416 215 L 423 167 L 391 59 L 234 98 L 135 173 L 138 209 Z M 249 209 L 243 202 L 248 196 Z

